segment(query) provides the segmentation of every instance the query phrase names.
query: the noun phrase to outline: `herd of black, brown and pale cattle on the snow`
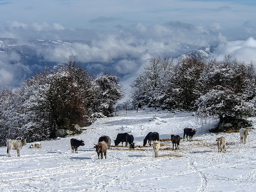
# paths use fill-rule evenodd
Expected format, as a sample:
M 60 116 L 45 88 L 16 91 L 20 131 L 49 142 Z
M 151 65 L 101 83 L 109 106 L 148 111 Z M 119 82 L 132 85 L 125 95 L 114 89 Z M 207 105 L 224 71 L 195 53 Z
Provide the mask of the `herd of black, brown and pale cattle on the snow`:
M 189 141 L 193 141 L 193 135 L 195 135 L 196 130 L 191 129 L 191 128 L 185 128 L 183 130 L 183 141 L 185 140 L 185 135 L 188 141 L 188 136 L 189 136 Z M 241 143 L 246 144 L 247 137 L 249 135 L 249 129 L 244 129 L 241 128 L 239 131 L 240 134 L 240 140 Z M 180 140 L 181 137 L 179 135 L 174 135 L 171 134 L 171 142 L 172 142 L 172 150 L 174 150 L 174 145 L 175 145 L 175 150 L 180 149 Z M 146 146 L 146 143 L 148 142 L 149 146 L 151 146 L 151 142 L 153 141 L 153 150 L 155 152 L 155 157 L 158 157 L 158 150 L 160 148 L 160 143 L 159 143 L 159 134 L 158 132 L 149 132 L 145 139 L 143 140 L 143 146 Z M 222 152 L 222 150 L 226 151 L 226 138 L 225 137 L 216 137 L 217 145 L 218 145 L 218 152 Z M 122 142 L 125 142 L 125 146 L 129 143 L 129 146 L 131 149 L 134 149 L 134 136 L 132 134 L 128 134 L 127 132 L 125 133 L 118 133 L 116 139 L 114 140 L 115 146 L 118 146 Z M 7 154 L 10 157 L 11 156 L 11 150 L 17 150 L 17 156 L 20 156 L 20 151 L 24 145 L 26 145 L 26 139 L 20 139 L 20 140 L 7 140 L 6 141 L 7 145 Z M 38 145 L 38 144 L 37 144 Z M 77 153 L 77 147 L 79 146 L 84 146 L 85 143 L 83 140 L 77 140 L 72 138 L 70 140 L 70 145 L 72 149 L 72 153 Z M 105 158 L 107 158 L 107 150 L 111 149 L 111 139 L 110 136 L 103 135 L 99 137 L 98 139 L 98 144 L 94 144 L 94 148 L 96 149 L 96 152 L 98 154 L 98 159 L 99 155 L 101 159 L 103 159 L 103 155 Z M 30 148 L 31 147 L 30 145 Z M 42 148 L 41 144 L 40 147 Z

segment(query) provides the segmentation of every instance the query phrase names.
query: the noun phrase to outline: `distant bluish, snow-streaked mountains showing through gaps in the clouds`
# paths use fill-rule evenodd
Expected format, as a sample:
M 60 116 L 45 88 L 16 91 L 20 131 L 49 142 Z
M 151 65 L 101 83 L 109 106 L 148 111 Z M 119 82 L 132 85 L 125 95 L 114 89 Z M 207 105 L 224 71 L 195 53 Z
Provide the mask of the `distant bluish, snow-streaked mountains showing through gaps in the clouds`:
M 30 70 L 30 74 L 19 74 L 24 78 L 27 78 L 33 75 L 35 72 L 40 72 L 44 69 L 46 65 L 52 67 L 58 67 L 63 65 L 61 62 L 53 62 L 49 61 L 44 57 L 43 54 L 38 50 L 50 50 L 54 48 L 61 49 L 64 46 L 72 46 L 75 43 L 81 43 L 88 46 L 91 46 L 91 42 L 85 40 L 71 40 L 71 41 L 61 41 L 61 40 L 29 40 L 22 41 L 19 39 L 12 38 L 0 38 L 0 53 L 13 54 L 14 57 L 10 57 L 9 62 L 11 64 L 15 64 L 17 62 L 27 66 Z M 196 57 L 200 57 L 202 59 L 206 59 L 210 57 L 211 53 L 214 53 L 214 50 L 217 46 L 206 46 L 206 47 L 198 47 L 192 45 L 184 45 L 177 43 L 178 51 L 175 58 L 181 59 L 182 57 L 186 57 L 188 55 L 193 55 Z M 131 44 L 132 47 L 138 47 L 138 44 Z M 180 53 L 180 54 L 179 54 Z M 183 54 L 181 54 L 183 53 Z M 1 56 L 1 54 L 0 54 Z M 16 57 L 15 57 L 16 56 Z M 18 58 L 18 59 L 16 59 Z M 0 58 L 1 60 L 1 58 Z M 123 60 L 123 58 L 112 58 L 110 62 L 80 62 L 80 64 L 85 67 L 85 69 L 90 72 L 90 74 L 113 74 L 120 76 L 124 76 L 125 74 L 117 72 L 115 69 L 115 64 L 119 61 Z M 127 58 L 126 58 L 127 60 Z M 129 58 L 128 60 L 133 60 L 136 62 L 137 58 Z

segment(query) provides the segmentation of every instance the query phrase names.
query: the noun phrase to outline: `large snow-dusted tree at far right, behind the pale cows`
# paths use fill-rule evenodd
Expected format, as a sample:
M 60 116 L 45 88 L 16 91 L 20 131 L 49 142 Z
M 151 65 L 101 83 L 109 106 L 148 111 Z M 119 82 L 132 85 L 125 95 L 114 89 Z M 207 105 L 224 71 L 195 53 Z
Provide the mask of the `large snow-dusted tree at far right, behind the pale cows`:
M 219 129 L 226 123 L 239 128 L 241 121 L 253 115 L 255 108 L 255 73 L 252 65 L 231 60 L 226 56 L 223 61 L 212 60 L 207 71 L 200 78 L 202 95 L 197 99 L 197 113 L 200 117 L 219 117 Z

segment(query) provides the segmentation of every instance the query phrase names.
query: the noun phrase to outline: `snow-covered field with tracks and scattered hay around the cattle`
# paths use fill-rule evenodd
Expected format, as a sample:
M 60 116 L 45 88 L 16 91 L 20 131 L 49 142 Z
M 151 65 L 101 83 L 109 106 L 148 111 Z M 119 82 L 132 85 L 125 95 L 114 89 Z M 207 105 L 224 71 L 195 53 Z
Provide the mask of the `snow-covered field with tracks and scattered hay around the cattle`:
M 253 119 L 255 120 L 255 119 Z M 116 117 L 98 119 L 81 135 L 85 146 L 71 153 L 70 139 L 40 142 L 42 149 L 27 144 L 17 157 L 0 147 L 1 192 L 254 192 L 256 190 L 256 136 L 252 129 L 247 144 L 239 133 L 208 133 L 216 121 L 202 124 L 192 113 L 168 111 L 119 111 Z M 181 141 L 179 150 L 161 142 L 158 155 L 143 145 L 148 132 L 160 139 L 183 137 L 183 129 L 195 128 L 193 142 Z M 98 159 L 93 146 L 98 138 L 112 139 L 121 132 L 134 135 L 135 149 L 112 147 L 107 159 Z M 216 136 L 225 136 L 226 152 L 218 153 Z M 112 142 L 113 143 L 113 142 Z M 122 144 L 121 144 L 122 145 Z

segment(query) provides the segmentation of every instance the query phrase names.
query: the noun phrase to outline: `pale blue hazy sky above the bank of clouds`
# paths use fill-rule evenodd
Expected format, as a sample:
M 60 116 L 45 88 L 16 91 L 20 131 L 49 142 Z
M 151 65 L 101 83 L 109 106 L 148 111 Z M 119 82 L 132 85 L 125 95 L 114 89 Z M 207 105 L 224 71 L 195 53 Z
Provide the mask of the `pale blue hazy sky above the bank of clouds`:
M 236 28 L 253 23 L 255 10 L 254 0 L 0 0 L 0 24 L 45 22 L 65 29 L 104 30 L 180 21 Z

